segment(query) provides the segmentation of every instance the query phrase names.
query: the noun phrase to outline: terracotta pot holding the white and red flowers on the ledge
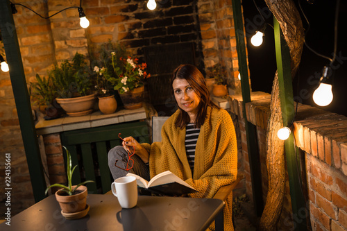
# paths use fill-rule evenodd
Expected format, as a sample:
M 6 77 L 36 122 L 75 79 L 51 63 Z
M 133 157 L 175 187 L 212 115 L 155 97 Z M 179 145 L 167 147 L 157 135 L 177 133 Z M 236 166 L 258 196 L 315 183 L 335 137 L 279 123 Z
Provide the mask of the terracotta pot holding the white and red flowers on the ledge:
M 141 108 L 144 101 L 144 86 L 137 87 L 130 92 L 125 92 L 124 94 L 119 94 L 121 101 L 126 109 L 136 109 Z

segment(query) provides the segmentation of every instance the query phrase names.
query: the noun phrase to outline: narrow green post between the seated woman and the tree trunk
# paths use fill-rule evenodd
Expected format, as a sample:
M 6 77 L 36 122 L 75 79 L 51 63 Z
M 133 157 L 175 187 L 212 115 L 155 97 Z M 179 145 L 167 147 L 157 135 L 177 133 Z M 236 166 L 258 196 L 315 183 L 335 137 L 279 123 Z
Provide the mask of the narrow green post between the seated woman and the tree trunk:
M 232 11 L 234 15 L 234 24 L 236 31 L 237 57 L 239 60 L 239 72 L 241 78 L 242 89 L 242 114 L 244 115 L 244 126 L 246 130 L 247 149 L 249 166 L 251 170 L 251 181 L 253 191 L 253 203 L 257 216 L 261 216 L 264 209 L 262 199 L 262 174 L 260 172 L 260 157 L 258 153 L 258 144 L 256 136 L 256 127 L 247 121 L 245 104 L 251 102 L 251 91 L 248 82 L 248 67 L 246 56 L 246 44 L 244 42 L 244 25 L 242 22 L 242 8 L 240 0 L 232 0 Z

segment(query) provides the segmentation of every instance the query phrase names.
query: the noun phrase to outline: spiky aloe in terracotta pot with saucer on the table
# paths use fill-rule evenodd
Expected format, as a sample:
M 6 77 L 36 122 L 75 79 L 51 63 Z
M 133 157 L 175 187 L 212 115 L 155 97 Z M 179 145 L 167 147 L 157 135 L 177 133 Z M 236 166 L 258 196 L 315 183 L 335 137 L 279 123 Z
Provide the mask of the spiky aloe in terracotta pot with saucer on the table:
M 51 187 L 61 187 L 56 191 L 56 200 L 58 201 L 60 208 L 62 209 L 62 215 L 67 219 L 79 219 L 88 213 L 89 206 L 87 206 L 87 187 L 84 185 L 92 180 L 86 180 L 78 185 L 72 185 L 71 179 L 76 166 L 72 168 L 71 155 L 65 146 L 67 153 L 67 186 L 61 184 L 53 184 L 47 187 L 45 194 Z

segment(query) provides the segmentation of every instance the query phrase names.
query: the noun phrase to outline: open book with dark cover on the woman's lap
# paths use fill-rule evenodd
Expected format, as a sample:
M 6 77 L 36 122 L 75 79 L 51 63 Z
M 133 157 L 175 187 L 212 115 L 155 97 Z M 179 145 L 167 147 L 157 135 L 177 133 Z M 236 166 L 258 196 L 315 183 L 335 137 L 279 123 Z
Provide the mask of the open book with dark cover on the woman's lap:
M 164 171 L 153 177 L 149 182 L 144 178 L 133 173 L 128 173 L 126 176 L 135 176 L 137 186 L 143 189 L 148 189 L 155 194 L 166 196 L 180 196 L 196 192 L 194 187 L 180 179 L 171 171 Z

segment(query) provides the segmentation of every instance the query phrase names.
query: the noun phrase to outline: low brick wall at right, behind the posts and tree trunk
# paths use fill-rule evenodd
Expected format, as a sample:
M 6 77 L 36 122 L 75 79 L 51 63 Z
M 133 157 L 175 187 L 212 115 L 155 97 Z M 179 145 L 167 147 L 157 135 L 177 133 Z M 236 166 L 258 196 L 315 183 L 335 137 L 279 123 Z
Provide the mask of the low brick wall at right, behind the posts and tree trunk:
M 267 194 L 266 127 L 269 117 L 270 94 L 253 92 L 252 102 L 246 103 L 247 120 L 257 126 L 264 201 Z M 246 133 L 242 121 L 242 97 L 231 96 L 230 110 L 239 117 L 244 156 L 246 192 L 252 198 Z M 298 105 L 294 122 L 296 145 L 300 159 L 307 208 L 310 209 L 312 230 L 347 230 L 347 117 L 308 105 Z M 289 181 L 286 176 L 285 198 L 278 223 L 280 230 L 292 230 L 301 214 L 291 216 Z

